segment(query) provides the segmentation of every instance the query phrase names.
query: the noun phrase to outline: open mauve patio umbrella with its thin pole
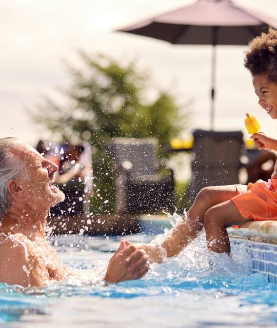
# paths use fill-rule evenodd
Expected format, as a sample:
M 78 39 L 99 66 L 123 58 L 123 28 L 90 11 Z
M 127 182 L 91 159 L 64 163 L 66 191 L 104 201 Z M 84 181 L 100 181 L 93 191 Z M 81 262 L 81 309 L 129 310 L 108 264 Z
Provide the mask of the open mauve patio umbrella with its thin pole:
M 277 20 L 235 5 L 231 0 L 198 0 L 120 31 L 150 36 L 171 44 L 212 45 L 210 128 L 214 125 L 216 45 L 246 45 Z

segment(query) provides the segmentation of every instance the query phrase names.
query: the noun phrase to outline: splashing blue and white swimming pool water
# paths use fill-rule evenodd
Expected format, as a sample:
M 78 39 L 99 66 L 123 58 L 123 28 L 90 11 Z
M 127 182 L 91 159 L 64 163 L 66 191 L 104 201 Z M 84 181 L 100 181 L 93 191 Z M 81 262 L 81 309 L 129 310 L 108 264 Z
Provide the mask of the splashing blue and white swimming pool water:
M 149 241 L 151 235 L 126 236 Z M 102 277 L 120 237 L 53 237 L 64 263 L 82 277 L 22 289 L 0 284 L 5 327 L 274 326 L 277 285 L 252 274 L 244 242 L 232 256 L 211 254 L 202 233 L 176 258 L 153 264 L 141 280 L 105 285 Z

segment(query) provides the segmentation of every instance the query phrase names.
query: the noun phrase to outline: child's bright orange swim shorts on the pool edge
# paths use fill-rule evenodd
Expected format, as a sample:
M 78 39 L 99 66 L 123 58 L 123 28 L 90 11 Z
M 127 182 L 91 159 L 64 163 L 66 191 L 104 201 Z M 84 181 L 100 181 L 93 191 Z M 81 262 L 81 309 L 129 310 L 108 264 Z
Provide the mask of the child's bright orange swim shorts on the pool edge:
M 277 220 L 277 179 L 271 182 L 271 187 L 263 180 L 250 182 L 246 192 L 242 192 L 240 185 L 236 186 L 238 195 L 231 200 L 244 218 L 254 221 Z

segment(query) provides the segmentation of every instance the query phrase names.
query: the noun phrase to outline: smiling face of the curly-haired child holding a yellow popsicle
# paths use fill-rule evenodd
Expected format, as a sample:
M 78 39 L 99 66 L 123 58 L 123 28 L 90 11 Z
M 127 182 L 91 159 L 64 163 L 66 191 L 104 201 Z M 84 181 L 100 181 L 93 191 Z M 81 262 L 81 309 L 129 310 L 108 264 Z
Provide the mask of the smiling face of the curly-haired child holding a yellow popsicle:
M 259 105 L 263 107 L 271 118 L 277 119 L 277 84 L 267 79 L 265 74 L 254 75 L 252 78 Z

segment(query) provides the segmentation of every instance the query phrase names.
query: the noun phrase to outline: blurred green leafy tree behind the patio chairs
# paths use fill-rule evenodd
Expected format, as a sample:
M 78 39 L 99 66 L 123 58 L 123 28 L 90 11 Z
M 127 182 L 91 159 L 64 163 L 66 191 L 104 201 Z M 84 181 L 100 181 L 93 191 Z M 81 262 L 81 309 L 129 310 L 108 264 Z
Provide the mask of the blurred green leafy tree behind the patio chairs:
M 103 212 L 103 207 L 104 211 L 113 207 L 108 142 L 114 137 L 151 136 L 159 139 L 160 146 L 166 145 L 184 129 L 187 115 L 180 115 L 168 92 L 157 91 L 154 101 L 143 101 L 148 75 L 138 72 L 134 63 L 121 66 L 107 56 L 81 56 L 85 69 L 69 68 L 73 83 L 64 92 L 69 107 L 46 98 L 32 116 L 63 141 L 78 135 L 78 139 L 85 138 L 95 147 L 93 168 L 99 189 L 96 194 L 100 196 L 94 205 Z M 102 194 L 110 200 L 106 205 Z

